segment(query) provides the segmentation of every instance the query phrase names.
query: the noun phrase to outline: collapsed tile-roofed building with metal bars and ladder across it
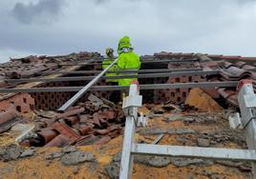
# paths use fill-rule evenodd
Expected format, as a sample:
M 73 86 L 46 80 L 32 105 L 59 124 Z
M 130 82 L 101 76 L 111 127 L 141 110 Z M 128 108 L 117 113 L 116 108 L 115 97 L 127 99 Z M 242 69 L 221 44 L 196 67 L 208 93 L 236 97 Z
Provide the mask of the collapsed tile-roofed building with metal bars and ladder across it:
M 103 59 L 0 65 L 0 178 L 256 177 L 256 57 L 159 52 L 114 77 Z M 106 83 L 125 77 L 139 86 Z

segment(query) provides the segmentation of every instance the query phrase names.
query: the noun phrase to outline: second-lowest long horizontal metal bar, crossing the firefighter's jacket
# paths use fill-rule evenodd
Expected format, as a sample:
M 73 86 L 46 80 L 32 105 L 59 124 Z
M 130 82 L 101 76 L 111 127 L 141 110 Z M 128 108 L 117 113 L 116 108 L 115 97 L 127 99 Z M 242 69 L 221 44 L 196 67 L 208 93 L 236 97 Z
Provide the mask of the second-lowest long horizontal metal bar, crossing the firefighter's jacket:
M 183 71 L 183 72 L 166 72 L 166 73 L 145 73 L 145 74 L 130 74 L 117 76 L 102 76 L 101 79 L 125 79 L 125 78 L 159 78 L 159 77 L 174 77 L 174 76 L 191 76 L 191 75 L 213 75 L 219 74 L 219 70 L 205 71 Z M 24 79 L 4 79 L 8 83 L 24 83 L 24 82 L 59 82 L 59 81 L 85 81 L 93 80 L 96 76 L 75 76 L 75 77 L 56 77 L 56 78 L 24 78 Z

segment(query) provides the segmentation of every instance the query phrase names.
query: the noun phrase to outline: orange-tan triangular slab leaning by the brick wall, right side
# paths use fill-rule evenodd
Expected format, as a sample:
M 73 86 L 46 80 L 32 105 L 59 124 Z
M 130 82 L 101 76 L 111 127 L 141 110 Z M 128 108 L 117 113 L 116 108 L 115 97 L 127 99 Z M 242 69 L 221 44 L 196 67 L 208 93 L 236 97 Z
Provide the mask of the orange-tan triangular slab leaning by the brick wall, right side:
M 196 107 L 199 111 L 222 111 L 223 108 L 213 100 L 208 94 L 203 92 L 202 89 L 191 89 L 185 104 Z

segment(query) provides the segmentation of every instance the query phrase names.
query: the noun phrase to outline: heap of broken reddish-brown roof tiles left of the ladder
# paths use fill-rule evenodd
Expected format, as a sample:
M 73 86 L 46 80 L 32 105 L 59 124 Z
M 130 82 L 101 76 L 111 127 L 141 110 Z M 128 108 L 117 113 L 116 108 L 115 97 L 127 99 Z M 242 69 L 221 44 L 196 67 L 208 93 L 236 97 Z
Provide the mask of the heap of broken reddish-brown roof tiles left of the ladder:
M 64 113 L 35 111 L 35 136 L 22 141 L 23 146 L 64 147 L 102 145 L 121 133 L 123 113 L 115 104 L 105 103 L 91 94 Z M 108 104 L 108 105 L 107 105 Z

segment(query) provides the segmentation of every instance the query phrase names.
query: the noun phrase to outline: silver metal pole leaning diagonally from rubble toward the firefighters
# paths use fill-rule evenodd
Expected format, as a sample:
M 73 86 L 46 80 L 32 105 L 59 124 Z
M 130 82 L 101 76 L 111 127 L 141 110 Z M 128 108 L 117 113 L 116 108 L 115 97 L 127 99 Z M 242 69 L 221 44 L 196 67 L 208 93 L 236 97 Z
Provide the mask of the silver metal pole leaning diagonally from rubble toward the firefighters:
M 88 83 L 85 87 L 80 89 L 75 96 L 73 96 L 70 100 L 68 100 L 62 107 L 58 109 L 58 111 L 64 111 L 71 107 L 88 89 L 90 89 L 93 85 L 96 84 L 96 82 L 105 74 L 107 70 L 110 70 L 115 64 L 117 63 L 117 59 L 108 66 L 105 70 L 102 70 L 96 78 L 94 78 L 90 83 Z

